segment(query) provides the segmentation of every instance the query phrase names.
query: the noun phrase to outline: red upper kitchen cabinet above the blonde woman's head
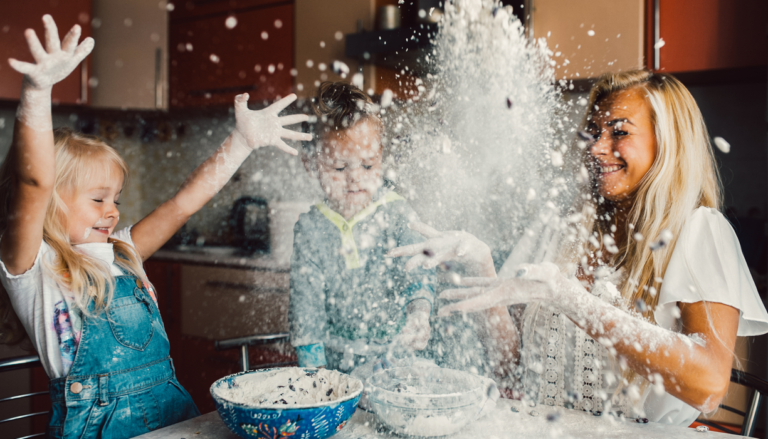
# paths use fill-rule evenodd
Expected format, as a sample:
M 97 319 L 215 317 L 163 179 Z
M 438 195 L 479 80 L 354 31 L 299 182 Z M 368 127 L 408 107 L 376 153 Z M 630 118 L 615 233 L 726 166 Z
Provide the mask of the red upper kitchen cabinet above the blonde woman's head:
M 648 0 L 648 13 L 647 55 L 649 67 L 657 71 L 745 69 L 768 63 L 765 0 Z M 654 26 L 664 41 L 658 50 Z

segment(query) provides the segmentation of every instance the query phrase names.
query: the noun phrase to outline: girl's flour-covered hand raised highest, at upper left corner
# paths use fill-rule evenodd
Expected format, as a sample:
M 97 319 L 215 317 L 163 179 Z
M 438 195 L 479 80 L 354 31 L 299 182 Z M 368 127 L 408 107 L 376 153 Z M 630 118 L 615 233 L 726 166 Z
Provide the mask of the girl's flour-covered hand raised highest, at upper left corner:
M 13 58 L 8 63 L 17 72 L 24 75 L 25 85 L 37 90 L 45 90 L 69 76 L 80 62 L 93 50 L 93 38 L 88 37 L 79 45 L 80 26 L 74 25 L 59 41 L 59 30 L 50 15 L 43 15 L 45 24 L 45 49 L 43 49 L 37 34 L 27 29 L 24 36 L 29 44 L 29 51 L 35 58 L 35 63 L 19 61 Z

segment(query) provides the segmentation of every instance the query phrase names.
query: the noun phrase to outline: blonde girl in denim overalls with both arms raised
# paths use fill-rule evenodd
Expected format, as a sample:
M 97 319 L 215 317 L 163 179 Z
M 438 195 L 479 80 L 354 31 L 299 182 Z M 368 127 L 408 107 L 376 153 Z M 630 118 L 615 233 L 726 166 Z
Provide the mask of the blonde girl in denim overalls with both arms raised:
M 250 111 L 235 99 L 236 128 L 179 192 L 115 232 L 128 175 L 118 153 L 91 136 L 52 130 L 51 88 L 90 53 L 75 26 L 62 42 L 46 15 L 43 49 L 25 35 L 13 143 L 0 174 L 0 280 L 51 378 L 52 437 L 133 437 L 199 414 L 176 380 L 168 337 L 146 279 L 150 257 L 229 180 L 250 152 L 281 137 L 307 140 L 278 117 L 295 96 Z M 7 310 L 0 310 L 7 314 Z

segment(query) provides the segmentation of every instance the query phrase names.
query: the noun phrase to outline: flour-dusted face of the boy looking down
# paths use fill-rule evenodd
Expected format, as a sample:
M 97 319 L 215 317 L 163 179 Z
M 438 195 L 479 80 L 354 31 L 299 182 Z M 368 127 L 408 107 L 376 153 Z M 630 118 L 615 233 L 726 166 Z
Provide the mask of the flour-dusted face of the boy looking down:
M 370 204 L 382 185 L 379 128 L 364 119 L 326 134 L 318 149 L 314 171 L 328 205 L 348 219 Z

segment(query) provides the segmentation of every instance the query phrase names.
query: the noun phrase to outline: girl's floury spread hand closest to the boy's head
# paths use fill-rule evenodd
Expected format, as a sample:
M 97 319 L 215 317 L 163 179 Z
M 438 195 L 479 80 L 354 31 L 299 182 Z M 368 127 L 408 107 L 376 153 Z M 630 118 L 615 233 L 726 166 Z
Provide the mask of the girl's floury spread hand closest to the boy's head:
M 263 110 L 248 109 L 248 93 L 235 96 L 235 119 L 237 125 L 233 137 L 245 143 L 248 148 L 257 149 L 263 146 L 274 145 L 288 154 L 297 155 L 298 151 L 288 146 L 283 139 L 312 140 L 312 135 L 283 128 L 286 125 L 294 125 L 306 122 L 309 116 L 306 114 L 292 114 L 279 117 L 278 113 L 296 100 L 296 95 L 291 93 Z

